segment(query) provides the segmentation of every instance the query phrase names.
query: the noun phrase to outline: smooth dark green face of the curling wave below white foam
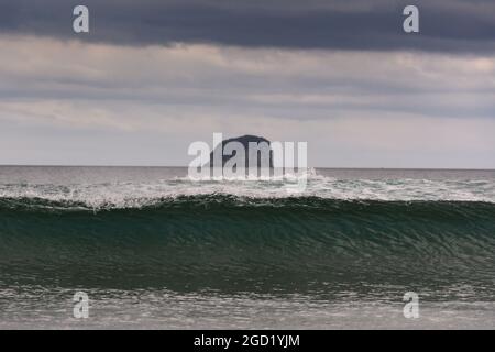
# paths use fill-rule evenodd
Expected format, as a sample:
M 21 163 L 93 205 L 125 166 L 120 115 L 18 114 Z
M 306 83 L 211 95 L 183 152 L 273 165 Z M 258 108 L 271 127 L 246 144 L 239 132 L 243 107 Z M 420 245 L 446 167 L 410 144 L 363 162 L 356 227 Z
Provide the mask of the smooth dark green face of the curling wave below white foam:
M 326 296 L 469 287 L 463 297 L 492 300 L 494 253 L 495 204 L 483 201 L 212 194 L 95 209 L 0 199 L 3 285 Z

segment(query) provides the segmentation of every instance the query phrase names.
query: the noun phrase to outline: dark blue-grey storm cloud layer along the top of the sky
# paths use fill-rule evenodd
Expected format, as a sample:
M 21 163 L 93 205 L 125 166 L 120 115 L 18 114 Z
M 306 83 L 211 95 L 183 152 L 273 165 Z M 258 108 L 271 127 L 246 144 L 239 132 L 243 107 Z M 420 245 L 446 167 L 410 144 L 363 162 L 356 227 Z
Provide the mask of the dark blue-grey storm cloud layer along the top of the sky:
M 89 35 L 72 31 L 72 10 L 81 3 L 90 9 Z M 402 30 L 407 4 L 419 7 L 419 35 Z M 0 0 L 0 31 L 125 45 L 493 52 L 495 2 Z

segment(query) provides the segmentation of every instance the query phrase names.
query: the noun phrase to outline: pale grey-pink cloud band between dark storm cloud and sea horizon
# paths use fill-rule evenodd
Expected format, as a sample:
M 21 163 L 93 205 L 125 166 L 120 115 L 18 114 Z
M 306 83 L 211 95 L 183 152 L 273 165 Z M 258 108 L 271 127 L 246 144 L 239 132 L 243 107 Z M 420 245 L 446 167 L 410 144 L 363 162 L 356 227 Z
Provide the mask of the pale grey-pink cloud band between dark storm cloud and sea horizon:
M 0 45 L 1 163 L 186 165 L 221 131 L 308 141 L 318 166 L 495 166 L 490 54 Z

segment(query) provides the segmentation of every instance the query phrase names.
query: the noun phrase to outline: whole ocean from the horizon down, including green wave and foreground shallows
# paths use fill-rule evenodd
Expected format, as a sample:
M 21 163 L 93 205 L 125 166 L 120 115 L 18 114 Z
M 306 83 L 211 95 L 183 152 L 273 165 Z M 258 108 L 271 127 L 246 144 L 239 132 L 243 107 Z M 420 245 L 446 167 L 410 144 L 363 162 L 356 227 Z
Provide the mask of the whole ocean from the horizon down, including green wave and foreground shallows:
M 0 328 L 495 328 L 495 170 L 186 175 L 1 166 Z

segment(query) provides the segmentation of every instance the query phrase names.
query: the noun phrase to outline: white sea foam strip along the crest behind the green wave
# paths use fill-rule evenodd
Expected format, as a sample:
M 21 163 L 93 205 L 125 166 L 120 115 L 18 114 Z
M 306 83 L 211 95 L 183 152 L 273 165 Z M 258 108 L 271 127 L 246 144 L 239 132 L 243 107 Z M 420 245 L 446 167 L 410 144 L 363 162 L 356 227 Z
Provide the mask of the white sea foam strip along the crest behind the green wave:
M 91 208 L 135 208 L 164 198 L 200 195 L 231 195 L 249 198 L 320 197 L 345 200 L 451 200 L 495 202 L 493 179 L 340 179 L 309 170 L 304 193 L 290 194 L 297 177 L 252 180 L 190 180 L 176 177 L 158 182 L 94 184 L 0 184 L 0 198 L 38 198 L 79 202 Z

